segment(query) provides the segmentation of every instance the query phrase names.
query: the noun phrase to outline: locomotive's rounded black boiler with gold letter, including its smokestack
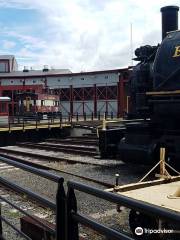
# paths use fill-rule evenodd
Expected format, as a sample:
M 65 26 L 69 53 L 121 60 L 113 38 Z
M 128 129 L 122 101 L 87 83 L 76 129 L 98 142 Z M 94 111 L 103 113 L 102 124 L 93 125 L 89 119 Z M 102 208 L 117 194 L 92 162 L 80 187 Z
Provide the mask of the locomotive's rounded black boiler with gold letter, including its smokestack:
M 180 89 L 180 31 L 177 6 L 161 8 L 162 41 L 154 61 L 154 90 Z M 174 31 L 174 32 L 171 32 Z M 169 33 L 168 33 L 169 32 Z M 166 36 L 167 35 L 167 36 Z

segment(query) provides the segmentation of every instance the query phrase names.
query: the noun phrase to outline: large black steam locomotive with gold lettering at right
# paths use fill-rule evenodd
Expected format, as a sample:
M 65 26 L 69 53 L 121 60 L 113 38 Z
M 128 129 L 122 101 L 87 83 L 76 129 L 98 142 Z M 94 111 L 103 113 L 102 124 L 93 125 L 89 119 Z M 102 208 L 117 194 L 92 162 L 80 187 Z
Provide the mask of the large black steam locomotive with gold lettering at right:
M 162 43 L 135 51 L 129 79 L 132 119 L 115 129 L 101 130 L 102 157 L 119 155 L 127 162 L 155 163 L 160 147 L 166 148 L 166 161 L 180 169 L 180 31 L 179 7 L 162 12 Z

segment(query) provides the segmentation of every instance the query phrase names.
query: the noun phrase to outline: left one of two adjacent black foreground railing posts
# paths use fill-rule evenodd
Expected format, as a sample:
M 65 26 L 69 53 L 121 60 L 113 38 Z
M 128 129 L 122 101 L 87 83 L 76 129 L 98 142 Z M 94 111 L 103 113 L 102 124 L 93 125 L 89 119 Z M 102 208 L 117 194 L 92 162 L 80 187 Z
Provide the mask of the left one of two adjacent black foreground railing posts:
M 56 194 L 56 240 L 66 239 L 66 195 L 63 179 L 58 182 Z

